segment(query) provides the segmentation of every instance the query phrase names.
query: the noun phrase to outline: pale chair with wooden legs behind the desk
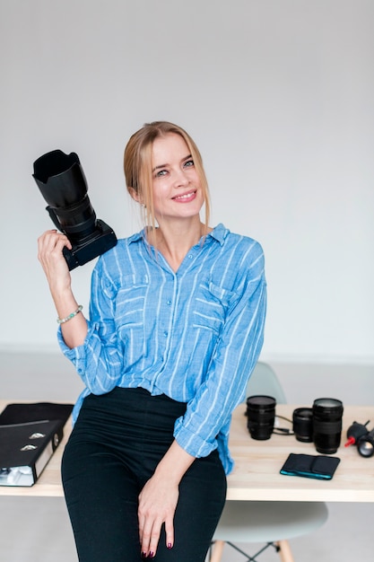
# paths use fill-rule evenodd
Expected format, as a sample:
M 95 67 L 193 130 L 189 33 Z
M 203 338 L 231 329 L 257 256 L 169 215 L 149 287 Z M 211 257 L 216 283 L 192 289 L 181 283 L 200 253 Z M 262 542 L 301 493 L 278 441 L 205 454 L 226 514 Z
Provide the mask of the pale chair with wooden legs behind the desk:
M 286 402 L 283 388 L 270 365 L 257 363 L 247 387 L 247 396 L 254 394 L 273 396 L 278 404 Z M 246 556 L 247 562 L 257 562 L 257 556 L 268 548 L 274 548 L 282 562 L 294 562 L 288 540 L 316 531 L 327 516 L 324 502 L 227 501 L 213 536 L 209 560 L 220 562 L 227 543 Z M 236 543 L 262 542 L 265 546 L 253 557 L 236 546 Z

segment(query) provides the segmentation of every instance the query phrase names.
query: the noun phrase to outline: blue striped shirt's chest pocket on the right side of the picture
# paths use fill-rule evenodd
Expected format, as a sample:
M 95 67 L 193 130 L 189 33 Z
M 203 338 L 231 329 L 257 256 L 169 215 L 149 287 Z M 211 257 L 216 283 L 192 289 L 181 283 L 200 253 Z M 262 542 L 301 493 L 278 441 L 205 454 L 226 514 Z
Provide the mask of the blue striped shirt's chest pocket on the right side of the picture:
M 199 285 L 193 312 L 194 327 L 219 334 L 235 299 L 235 293 L 211 281 Z

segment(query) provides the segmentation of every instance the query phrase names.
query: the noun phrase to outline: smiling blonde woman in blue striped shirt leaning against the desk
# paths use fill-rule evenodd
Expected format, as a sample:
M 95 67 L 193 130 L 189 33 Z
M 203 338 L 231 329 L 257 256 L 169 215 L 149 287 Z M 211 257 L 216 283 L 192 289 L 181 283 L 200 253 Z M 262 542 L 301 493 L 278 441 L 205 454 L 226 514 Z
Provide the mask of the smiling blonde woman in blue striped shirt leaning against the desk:
M 125 175 L 144 230 L 98 260 L 90 320 L 62 254 L 69 240 L 39 238 L 60 346 L 85 384 L 63 459 L 66 504 L 81 562 L 203 562 L 232 468 L 230 414 L 263 342 L 263 251 L 209 227 L 202 159 L 181 127 L 144 125 Z

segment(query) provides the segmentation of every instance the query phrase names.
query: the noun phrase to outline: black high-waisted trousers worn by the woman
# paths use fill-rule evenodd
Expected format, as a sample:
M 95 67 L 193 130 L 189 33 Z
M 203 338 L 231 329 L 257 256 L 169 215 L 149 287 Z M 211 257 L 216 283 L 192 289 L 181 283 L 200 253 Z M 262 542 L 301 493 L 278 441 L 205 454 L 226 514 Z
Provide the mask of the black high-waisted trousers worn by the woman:
M 144 389 L 90 395 L 65 447 L 65 500 L 81 562 L 139 562 L 137 508 L 145 482 L 173 441 L 186 404 Z M 157 562 L 204 562 L 222 514 L 226 476 L 218 452 L 196 459 L 179 485 L 175 542 L 162 528 Z

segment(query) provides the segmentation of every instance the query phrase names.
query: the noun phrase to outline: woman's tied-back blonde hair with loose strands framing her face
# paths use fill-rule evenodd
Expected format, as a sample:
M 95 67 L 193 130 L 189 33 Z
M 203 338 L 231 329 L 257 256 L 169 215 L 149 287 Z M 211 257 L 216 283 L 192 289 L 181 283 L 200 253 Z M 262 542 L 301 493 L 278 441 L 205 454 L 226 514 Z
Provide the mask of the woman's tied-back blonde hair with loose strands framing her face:
M 135 192 L 144 209 L 144 226 L 155 228 L 153 195 L 152 195 L 152 145 L 156 138 L 170 133 L 181 136 L 188 147 L 195 164 L 201 188 L 203 191 L 205 217 L 204 230 L 208 230 L 210 216 L 209 188 L 206 180 L 203 159 L 196 143 L 188 133 L 178 125 L 168 121 L 153 121 L 144 126 L 130 137 L 124 154 L 124 171 L 126 187 L 130 195 Z M 134 191 L 133 191 L 134 190 Z

